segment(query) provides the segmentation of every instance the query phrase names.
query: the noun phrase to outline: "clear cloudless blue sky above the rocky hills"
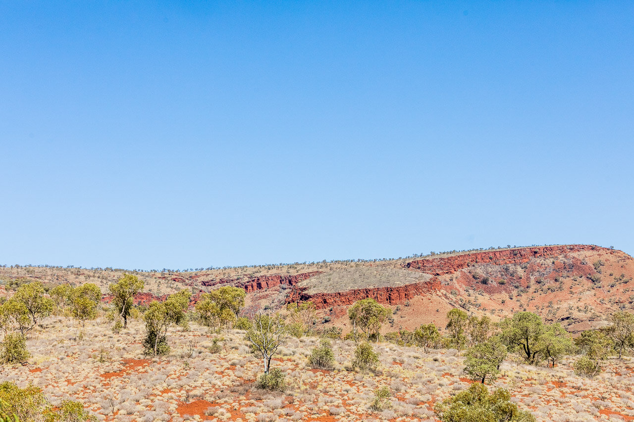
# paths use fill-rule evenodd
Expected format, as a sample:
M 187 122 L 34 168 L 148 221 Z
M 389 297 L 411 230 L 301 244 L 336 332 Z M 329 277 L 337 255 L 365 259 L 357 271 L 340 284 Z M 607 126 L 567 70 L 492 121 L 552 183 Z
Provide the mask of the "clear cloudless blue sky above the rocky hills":
M 0 264 L 634 253 L 634 3 L 0 4 Z

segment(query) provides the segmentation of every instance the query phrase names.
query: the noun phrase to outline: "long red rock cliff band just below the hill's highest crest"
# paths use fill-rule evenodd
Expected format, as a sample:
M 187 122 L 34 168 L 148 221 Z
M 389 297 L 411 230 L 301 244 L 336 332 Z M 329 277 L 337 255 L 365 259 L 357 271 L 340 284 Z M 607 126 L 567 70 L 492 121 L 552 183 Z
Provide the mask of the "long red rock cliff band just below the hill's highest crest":
M 470 264 L 522 264 L 533 258 L 556 257 L 570 252 L 586 250 L 611 251 L 607 248 L 590 245 L 534 246 L 530 248 L 466 253 L 453 257 L 420 259 L 408 262 L 405 264 L 405 267 L 440 276 L 441 274 L 451 274 L 452 272 L 467 268 Z

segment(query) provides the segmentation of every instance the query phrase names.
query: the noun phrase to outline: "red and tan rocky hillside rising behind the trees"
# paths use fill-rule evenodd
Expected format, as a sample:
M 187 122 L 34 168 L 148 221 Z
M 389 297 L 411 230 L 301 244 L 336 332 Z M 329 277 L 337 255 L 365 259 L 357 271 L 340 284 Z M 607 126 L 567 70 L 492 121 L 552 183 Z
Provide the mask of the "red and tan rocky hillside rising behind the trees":
M 61 267 L 0 267 L 3 283 L 20 278 L 46 283 L 108 284 L 124 271 Z M 634 259 L 593 245 L 499 248 L 398 260 L 337 261 L 231 267 L 201 271 L 133 271 L 145 281 L 146 304 L 182 288 L 194 293 L 219 286 L 247 291 L 245 312 L 280 309 L 311 300 L 326 325 L 346 327 L 347 307 L 375 298 L 394 310 L 385 331 L 421 323 L 444 326 L 444 315 L 460 307 L 493 319 L 531 310 L 570 331 L 597 328 L 616 310 L 634 308 Z M 6 295 L 0 286 L 0 295 Z M 194 296 L 194 299 L 198 295 Z M 105 295 L 104 300 L 108 300 Z

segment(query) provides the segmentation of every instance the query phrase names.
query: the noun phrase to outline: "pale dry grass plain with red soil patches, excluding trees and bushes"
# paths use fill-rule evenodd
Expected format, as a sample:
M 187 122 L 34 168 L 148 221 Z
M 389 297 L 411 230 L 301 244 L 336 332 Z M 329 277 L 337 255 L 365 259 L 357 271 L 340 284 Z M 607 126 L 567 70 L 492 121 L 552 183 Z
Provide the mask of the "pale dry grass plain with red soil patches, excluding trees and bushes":
M 273 357 L 285 374 L 283 392 L 256 388 L 262 359 L 252 354 L 245 332 L 221 334 L 197 323 L 169 333 L 171 352 L 143 354 L 145 325 L 136 319 L 119 335 L 105 319 L 86 323 L 49 317 L 29 335 L 29 365 L 4 365 L 2 380 L 42 388 L 53 406 L 81 402 L 98 420 L 430 420 L 437 403 L 466 390 L 465 356 L 456 349 L 429 350 L 392 343 L 372 344 L 375 372 L 353 370 L 356 345 L 330 340 L 332 371 L 314 369 L 309 357 L 320 347 L 316 337 L 289 338 Z M 214 338 L 221 345 L 211 352 Z M 190 353 L 190 342 L 194 342 Z M 634 418 L 634 362 L 607 359 L 594 378 L 574 374 L 574 357 L 555 368 L 531 366 L 510 355 L 488 388 L 505 388 L 519 409 L 538 421 L 618 421 Z M 375 390 L 387 387 L 384 410 L 372 410 Z M 622 415 L 622 416 L 619 416 Z M 619 419 L 623 418 L 623 419 Z

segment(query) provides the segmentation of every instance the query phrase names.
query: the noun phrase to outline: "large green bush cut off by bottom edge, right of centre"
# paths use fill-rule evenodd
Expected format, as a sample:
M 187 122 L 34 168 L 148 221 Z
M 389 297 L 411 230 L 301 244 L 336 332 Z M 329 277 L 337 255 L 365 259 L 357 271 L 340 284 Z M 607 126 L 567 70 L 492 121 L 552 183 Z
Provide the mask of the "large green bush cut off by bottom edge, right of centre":
M 443 422 L 535 422 L 529 412 L 520 411 L 503 388 L 493 393 L 481 383 L 473 383 L 436 405 L 436 414 Z

